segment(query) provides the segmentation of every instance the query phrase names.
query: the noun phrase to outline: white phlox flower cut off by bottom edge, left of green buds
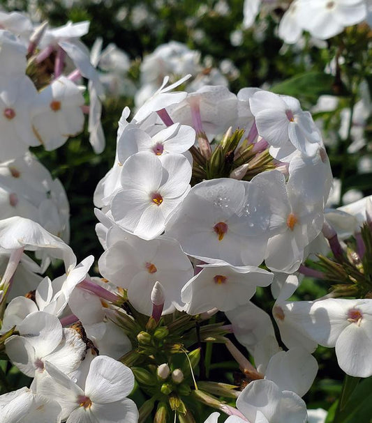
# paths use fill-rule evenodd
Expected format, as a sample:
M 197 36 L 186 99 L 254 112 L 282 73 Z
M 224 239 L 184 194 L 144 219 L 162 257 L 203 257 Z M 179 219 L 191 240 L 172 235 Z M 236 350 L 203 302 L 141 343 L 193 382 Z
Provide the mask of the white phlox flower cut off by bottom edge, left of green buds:
M 99 355 L 91 361 L 84 389 L 52 363 L 45 363 L 50 377 L 38 384 L 38 393 L 52 396 L 62 407 L 66 423 L 136 423 L 135 403 L 127 399 L 134 386 L 134 376 L 120 362 Z

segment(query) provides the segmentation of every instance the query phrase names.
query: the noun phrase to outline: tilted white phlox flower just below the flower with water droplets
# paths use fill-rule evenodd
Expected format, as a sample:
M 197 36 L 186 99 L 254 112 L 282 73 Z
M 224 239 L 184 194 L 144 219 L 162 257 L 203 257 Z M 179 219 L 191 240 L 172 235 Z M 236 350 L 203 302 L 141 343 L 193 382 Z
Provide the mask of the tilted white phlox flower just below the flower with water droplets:
M 200 265 L 202 271 L 181 291 L 188 314 L 207 312 L 216 307 L 222 312 L 248 303 L 257 286 L 271 284 L 273 274 L 254 266 Z

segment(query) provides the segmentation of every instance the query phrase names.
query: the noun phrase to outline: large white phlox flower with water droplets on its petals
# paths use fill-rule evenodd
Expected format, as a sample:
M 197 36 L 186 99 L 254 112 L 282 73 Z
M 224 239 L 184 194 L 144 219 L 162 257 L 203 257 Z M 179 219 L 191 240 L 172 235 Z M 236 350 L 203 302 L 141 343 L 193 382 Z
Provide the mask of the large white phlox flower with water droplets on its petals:
M 267 239 L 278 227 L 266 194 L 253 181 L 204 180 L 191 188 L 165 233 L 176 238 L 186 254 L 208 263 L 258 266 Z

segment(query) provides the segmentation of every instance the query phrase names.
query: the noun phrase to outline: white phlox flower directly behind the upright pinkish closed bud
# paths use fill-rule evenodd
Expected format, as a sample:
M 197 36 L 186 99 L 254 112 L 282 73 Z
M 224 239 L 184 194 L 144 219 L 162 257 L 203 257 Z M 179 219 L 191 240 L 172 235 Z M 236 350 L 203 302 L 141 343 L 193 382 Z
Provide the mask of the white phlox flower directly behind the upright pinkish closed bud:
M 161 237 L 142 240 L 119 228 L 107 234 L 107 251 L 98 261 L 110 282 L 128 289 L 128 299 L 141 313 L 151 315 L 155 282 L 165 289 L 163 314 L 181 308 L 181 289 L 193 277 L 193 266 L 176 240 Z

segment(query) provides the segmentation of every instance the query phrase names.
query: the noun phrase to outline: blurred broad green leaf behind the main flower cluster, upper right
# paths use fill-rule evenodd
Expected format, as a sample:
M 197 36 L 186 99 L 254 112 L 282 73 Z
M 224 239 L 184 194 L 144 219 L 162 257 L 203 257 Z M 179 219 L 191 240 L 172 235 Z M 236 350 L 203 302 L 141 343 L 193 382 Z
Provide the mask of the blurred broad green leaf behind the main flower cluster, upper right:
M 317 102 L 320 95 L 336 95 L 334 91 L 334 76 L 323 72 L 305 72 L 271 86 L 270 91 L 276 94 L 292 95 L 310 102 Z M 343 87 L 339 95 L 347 95 Z

